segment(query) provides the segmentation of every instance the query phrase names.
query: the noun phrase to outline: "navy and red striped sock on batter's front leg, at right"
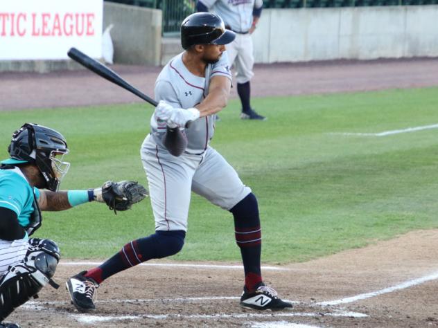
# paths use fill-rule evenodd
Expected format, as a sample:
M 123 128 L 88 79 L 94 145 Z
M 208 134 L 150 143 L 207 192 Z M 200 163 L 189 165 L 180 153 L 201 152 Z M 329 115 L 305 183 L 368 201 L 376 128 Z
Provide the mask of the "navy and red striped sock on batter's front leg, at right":
M 261 226 L 259 206 L 254 194 L 249 194 L 230 212 L 234 217 L 236 243 L 240 248 L 245 270 L 245 286 L 253 291 L 261 277 Z

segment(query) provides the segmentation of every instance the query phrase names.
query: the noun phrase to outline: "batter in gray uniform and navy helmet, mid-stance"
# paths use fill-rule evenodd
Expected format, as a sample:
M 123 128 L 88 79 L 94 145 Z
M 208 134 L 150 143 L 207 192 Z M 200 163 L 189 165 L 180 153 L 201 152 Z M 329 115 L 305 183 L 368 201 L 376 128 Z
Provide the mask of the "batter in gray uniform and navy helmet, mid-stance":
M 225 158 L 209 146 L 215 114 L 227 105 L 229 97 L 231 74 L 225 44 L 234 37 L 218 15 L 198 12 L 184 19 L 181 42 L 185 51 L 173 57 L 157 78 L 155 98 L 159 104 L 150 118 L 151 132 L 141 146 L 155 233 L 125 244 L 102 265 L 67 281 L 71 300 L 79 311 L 95 308 L 96 288 L 107 277 L 182 249 L 191 191 L 234 216 L 236 242 L 245 271 L 240 304 L 261 310 L 292 307 L 262 280 L 256 197 Z M 191 125 L 186 127 L 188 122 Z M 166 127 L 177 127 L 186 138 L 186 148 L 179 156 L 173 156 L 166 148 Z

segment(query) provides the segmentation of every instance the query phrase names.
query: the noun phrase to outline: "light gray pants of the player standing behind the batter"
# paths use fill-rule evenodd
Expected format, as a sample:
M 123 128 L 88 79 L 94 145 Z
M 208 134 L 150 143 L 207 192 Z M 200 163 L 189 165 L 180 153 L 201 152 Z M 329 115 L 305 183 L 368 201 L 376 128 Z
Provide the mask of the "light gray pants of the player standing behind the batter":
M 252 72 L 254 54 L 251 35 L 249 33 L 236 33 L 236 39 L 234 39 L 231 44 L 227 44 L 225 48 L 227 49 L 230 66 L 234 63 L 237 83 L 243 84 L 249 82 L 254 76 Z

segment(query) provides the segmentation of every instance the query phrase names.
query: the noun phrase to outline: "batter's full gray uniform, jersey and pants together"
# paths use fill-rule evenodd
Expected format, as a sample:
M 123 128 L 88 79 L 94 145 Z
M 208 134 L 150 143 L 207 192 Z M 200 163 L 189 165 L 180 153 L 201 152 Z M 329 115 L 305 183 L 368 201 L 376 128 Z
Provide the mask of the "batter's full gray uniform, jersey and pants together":
M 207 66 L 205 78 L 186 69 L 179 54 L 159 74 L 155 98 L 174 107 L 194 107 L 207 96 L 209 81 L 216 75 L 231 80 L 226 52 L 219 62 Z M 188 148 L 176 157 L 161 142 L 165 123 L 157 123 L 152 116 L 151 134 L 141 146 L 141 160 L 148 178 L 156 230 L 187 230 L 191 191 L 225 210 L 233 208 L 251 192 L 225 158 L 209 146 L 213 120 L 203 117 L 192 122 L 185 129 Z

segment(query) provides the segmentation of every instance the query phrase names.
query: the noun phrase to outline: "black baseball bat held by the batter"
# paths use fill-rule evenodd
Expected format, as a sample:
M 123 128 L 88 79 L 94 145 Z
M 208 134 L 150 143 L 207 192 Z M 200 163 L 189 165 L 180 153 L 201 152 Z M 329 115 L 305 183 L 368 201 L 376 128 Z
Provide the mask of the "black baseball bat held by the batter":
M 137 95 L 137 97 L 145 100 L 146 102 L 149 102 L 152 104 L 153 107 L 157 107 L 158 102 L 150 98 L 148 95 L 145 95 L 143 92 L 141 92 L 139 89 L 132 86 L 132 84 L 129 84 L 119 74 L 112 71 L 112 69 L 109 69 L 104 64 L 98 62 L 97 60 L 94 60 L 93 58 L 89 57 L 88 55 L 85 55 L 85 53 L 82 53 L 82 51 L 79 51 L 76 48 L 70 48 L 67 55 L 74 60 L 75 62 L 78 62 L 82 66 L 85 66 L 85 68 L 89 69 L 90 71 L 96 73 L 100 77 L 108 80 L 109 82 L 112 82 L 118 86 L 121 86 L 123 89 L 130 91 L 131 93 L 134 93 L 134 95 Z M 186 123 L 186 127 L 189 127 L 191 125 L 191 121 Z

